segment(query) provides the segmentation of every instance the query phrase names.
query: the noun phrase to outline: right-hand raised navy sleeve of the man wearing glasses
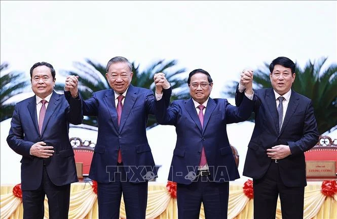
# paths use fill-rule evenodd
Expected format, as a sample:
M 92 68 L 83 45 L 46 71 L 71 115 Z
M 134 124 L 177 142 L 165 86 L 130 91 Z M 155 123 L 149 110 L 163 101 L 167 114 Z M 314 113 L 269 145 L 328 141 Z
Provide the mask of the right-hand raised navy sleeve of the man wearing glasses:
M 227 124 L 247 120 L 253 111 L 255 101 L 255 96 L 253 97 L 253 100 L 249 100 L 245 95 L 243 95 L 243 100 L 240 103 L 240 106 L 236 107 L 225 100 Z

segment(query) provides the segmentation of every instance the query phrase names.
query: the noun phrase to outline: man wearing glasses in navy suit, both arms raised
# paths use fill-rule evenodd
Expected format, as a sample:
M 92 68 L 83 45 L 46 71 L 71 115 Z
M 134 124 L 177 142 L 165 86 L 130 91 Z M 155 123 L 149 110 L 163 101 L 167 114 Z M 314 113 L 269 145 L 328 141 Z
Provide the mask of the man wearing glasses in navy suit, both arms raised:
M 229 181 L 239 178 L 226 124 L 241 122 L 250 116 L 253 106 L 252 72 L 244 71 L 246 85 L 240 107 L 226 99 L 212 99 L 213 80 L 202 69 L 188 78 L 191 98 L 176 100 L 169 106 L 156 94 L 156 117 L 160 124 L 175 126 L 177 142 L 168 180 L 177 182 L 179 218 L 199 218 L 201 203 L 206 218 L 227 218 Z M 155 75 L 157 88 L 165 79 Z

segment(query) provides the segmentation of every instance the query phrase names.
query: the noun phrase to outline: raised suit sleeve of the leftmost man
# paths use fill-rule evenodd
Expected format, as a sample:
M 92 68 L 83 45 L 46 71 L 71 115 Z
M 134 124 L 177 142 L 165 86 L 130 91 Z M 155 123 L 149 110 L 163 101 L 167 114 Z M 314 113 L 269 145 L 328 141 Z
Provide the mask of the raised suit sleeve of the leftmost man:
M 70 92 L 69 92 L 70 93 Z M 81 124 L 83 122 L 82 98 L 79 92 L 79 97 L 68 98 L 69 106 L 66 109 L 68 121 L 71 124 Z

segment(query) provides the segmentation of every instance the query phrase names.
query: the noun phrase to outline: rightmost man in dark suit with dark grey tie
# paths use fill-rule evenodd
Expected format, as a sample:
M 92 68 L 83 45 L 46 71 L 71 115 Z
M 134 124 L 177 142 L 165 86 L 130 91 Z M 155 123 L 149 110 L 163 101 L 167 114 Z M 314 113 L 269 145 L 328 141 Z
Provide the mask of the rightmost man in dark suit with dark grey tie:
M 282 218 L 302 219 L 306 163 L 304 152 L 318 142 L 314 108 L 291 89 L 295 64 L 278 57 L 269 66 L 273 88 L 254 91 L 255 127 L 248 144 L 243 175 L 253 178 L 254 218 L 275 218 L 278 196 Z M 240 82 L 236 104 L 242 104 Z

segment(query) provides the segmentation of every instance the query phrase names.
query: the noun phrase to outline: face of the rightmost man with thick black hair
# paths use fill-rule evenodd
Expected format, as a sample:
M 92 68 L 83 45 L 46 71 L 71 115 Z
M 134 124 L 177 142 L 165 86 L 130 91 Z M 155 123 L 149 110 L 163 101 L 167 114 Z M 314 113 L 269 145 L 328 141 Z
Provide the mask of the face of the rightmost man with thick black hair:
M 295 80 L 295 74 L 291 74 L 291 69 L 281 65 L 275 65 L 269 76 L 274 90 L 281 96 L 290 90 Z

